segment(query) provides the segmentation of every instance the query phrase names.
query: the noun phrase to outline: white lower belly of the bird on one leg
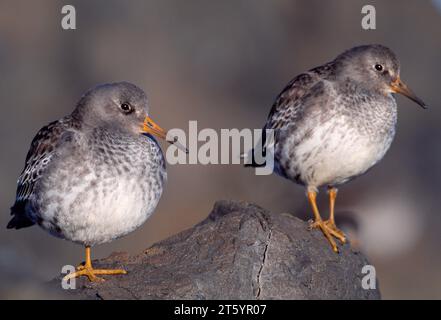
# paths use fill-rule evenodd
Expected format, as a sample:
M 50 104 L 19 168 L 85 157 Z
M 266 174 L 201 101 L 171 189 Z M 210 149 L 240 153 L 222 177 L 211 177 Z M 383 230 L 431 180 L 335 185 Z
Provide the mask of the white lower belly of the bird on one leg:
M 58 198 L 40 211 L 41 226 L 57 237 L 84 245 L 122 237 L 150 217 L 161 196 L 162 188 L 152 189 L 139 179 L 133 174 L 109 175 L 97 187 L 92 185 L 97 179 L 91 173 L 71 186 L 71 196 Z M 57 199 L 56 191 L 45 196 Z

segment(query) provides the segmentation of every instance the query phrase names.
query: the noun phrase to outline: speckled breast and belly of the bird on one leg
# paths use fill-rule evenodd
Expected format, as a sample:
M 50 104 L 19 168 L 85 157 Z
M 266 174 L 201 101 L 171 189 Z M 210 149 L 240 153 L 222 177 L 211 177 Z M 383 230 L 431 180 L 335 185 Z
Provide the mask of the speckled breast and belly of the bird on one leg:
M 32 211 L 53 235 L 96 245 L 145 222 L 161 197 L 166 171 L 160 147 L 148 137 L 88 142 L 60 151 L 64 161 L 48 168 Z

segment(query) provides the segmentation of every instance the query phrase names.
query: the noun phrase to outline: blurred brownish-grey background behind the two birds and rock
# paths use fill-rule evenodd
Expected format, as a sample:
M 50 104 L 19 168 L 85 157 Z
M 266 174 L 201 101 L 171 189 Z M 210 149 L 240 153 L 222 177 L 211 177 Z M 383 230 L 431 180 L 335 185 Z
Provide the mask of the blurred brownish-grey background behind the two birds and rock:
M 72 4 L 77 30 L 60 26 Z M 361 28 L 374 5 L 377 29 Z M 38 227 L 6 230 L 30 142 L 72 111 L 88 88 L 126 80 L 145 89 L 163 127 L 261 128 L 298 73 L 352 46 L 381 43 L 431 107 L 398 97 L 396 139 L 369 174 L 340 189 L 337 222 L 376 267 L 383 298 L 441 298 L 441 1 L 0 1 L 0 297 L 51 298 L 38 283 L 82 247 Z M 137 253 L 193 226 L 219 199 L 247 200 L 309 219 L 303 188 L 240 165 L 168 166 L 151 219 L 93 250 Z M 322 213 L 327 198 L 321 193 Z

